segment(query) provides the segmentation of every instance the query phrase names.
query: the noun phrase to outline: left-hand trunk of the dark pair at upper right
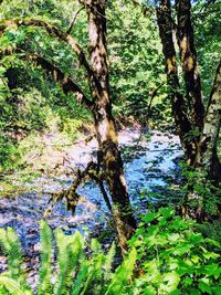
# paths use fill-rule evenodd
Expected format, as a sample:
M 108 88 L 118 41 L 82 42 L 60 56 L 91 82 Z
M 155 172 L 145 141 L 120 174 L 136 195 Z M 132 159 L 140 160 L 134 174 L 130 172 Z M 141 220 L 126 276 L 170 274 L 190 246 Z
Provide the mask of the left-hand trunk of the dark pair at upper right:
M 157 22 L 165 55 L 168 85 L 170 86 L 172 114 L 187 162 L 191 165 L 194 161 L 197 143 L 190 141 L 187 137 L 192 127 L 187 116 L 187 105 L 180 92 L 177 74 L 177 59 L 172 38 L 173 22 L 169 0 L 160 1 L 157 8 Z

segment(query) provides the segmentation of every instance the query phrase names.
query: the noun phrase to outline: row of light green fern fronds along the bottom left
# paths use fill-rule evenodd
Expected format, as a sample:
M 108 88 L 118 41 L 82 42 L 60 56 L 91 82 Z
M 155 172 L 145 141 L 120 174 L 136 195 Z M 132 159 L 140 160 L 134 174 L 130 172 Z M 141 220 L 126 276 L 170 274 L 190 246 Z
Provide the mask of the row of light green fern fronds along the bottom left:
M 65 235 L 61 229 L 56 229 L 59 270 L 55 284 L 52 285 L 53 233 L 44 221 L 40 224 L 40 238 L 41 266 L 38 295 L 129 294 L 125 293 L 128 291 L 125 286 L 133 274 L 135 250 L 113 273 L 114 244 L 105 255 L 101 244 L 93 239 L 90 246 L 92 254 L 87 259 L 85 242 L 78 232 Z M 21 245 L 15 232 L 12 229 L 0 230 L 0 243 L 9 261 L 9 272 L 0 275 L 0 295 L 33 295 L 31 287 L 27 286 Z

